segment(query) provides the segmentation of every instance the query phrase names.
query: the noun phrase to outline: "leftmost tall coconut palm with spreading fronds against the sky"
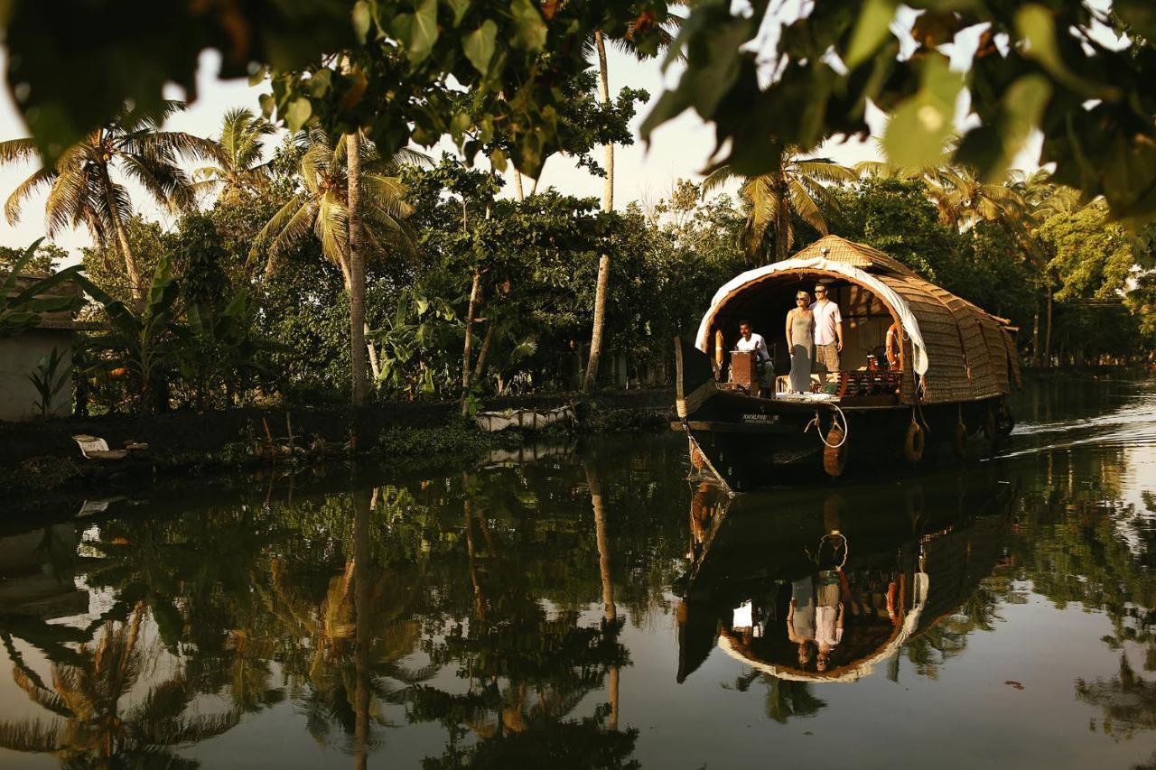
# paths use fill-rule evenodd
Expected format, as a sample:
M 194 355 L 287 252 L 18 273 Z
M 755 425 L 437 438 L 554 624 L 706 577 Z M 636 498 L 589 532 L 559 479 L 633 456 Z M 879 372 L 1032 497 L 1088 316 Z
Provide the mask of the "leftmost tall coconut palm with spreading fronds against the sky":
M 183 131 L 161 129 L 169 117 L 184 109 L 181 102 L 165 102 L 158 112 L 124 109 L 82 142 L 64 150 L 55 165 L 42 165 L 24 179 L 5 203 L 8 222 L 20 220 L 30 195 L 47 190 L 49 236 L 83 225 L 101 249 L 112 238 L 125 260 L 133 297 L 142 302 L 147 287 L 128 245 L 126 224 L 133 212 L 126 183 L 140 185 L 173 213 L 185 212 L 197 205 L 197 197 L 192 179 L 180 168 L 181 161 L 223 162 L 216 142 Z M 31 139 L 0 142 L 0 164 L 39 160 Z

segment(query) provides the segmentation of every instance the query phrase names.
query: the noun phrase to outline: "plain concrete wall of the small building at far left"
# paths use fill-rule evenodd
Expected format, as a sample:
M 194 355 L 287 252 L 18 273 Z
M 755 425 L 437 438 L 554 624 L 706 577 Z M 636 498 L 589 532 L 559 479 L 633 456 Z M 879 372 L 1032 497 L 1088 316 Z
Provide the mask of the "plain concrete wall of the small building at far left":
M 65 360 L 58 371 L 72 364 L 73 333 L 68 330 L 35 328 L 14 338 L 0 340 L 0 420 L 22 422 L 39 416 L 39 395 L 28 375 L 40 362 L 40 356 L 60 348 Z M 72 412 L 72 379 L 57 394 L 52 403 L 53 414 L 67 415 Z

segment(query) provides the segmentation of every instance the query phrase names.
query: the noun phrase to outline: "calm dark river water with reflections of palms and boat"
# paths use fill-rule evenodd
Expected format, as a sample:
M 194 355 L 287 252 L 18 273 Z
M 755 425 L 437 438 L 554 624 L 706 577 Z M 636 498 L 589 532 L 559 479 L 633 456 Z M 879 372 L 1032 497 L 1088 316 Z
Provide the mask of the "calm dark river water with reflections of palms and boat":
M 9 523 L 0 767 L 1156 762 L 1156 386 L 1016 412 L 734 501 L 667 436 Z

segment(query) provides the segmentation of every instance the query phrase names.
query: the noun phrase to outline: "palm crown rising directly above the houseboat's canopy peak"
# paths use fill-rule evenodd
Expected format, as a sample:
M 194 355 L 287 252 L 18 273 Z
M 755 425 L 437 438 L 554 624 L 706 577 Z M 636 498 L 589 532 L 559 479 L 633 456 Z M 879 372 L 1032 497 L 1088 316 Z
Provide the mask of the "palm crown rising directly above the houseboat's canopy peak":
M 764 247 L 770 231 L 775 237 L 775 261 L 787 258 L 794 245 L 792 214 L 827 235 L 828 217 L 838 212 L 839 205 L 824 183 L 853 182 L 855 172 L 827 157 L 809 157 L 808 151 L 787 147 L 777 169 L 754 178 L 739 177 L 731 166 L 724 165 L 703 180 L 703 195 L 706 195 L 735 177 L 744 179 L 741 194 L 750 205 L 750 212 L 743 243 L 751 257 Z

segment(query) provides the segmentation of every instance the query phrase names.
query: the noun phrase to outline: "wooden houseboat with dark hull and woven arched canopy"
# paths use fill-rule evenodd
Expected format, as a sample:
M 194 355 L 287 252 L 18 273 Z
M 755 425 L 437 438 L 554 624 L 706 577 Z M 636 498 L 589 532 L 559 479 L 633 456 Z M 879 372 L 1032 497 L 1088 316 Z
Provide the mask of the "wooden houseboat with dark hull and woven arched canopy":
M 779 392 L 791 367 L 786 312 L 816 283 L 843 316 L 842 371 L 816 383 L 822 392 Z M 750 354 L 733 350 L 740 320 L 772 349 L 770 382 L 754 375 Z M 902 353 L 889 369 L 882 348 L 892 324 Z M 726 283 L 694 343 L 675 341 L 679 427 L 695 467 L 732 491 L 783 481 L 785 464 L 807 458 L 837 476 L 855 456 L 895 452 L 916 465 L 933 439 L 962 453 L 977 432 L 994 440 L 1011 430 L 1006 397 L 1022 386 L 1014 331 L 887 254 L 828 236 Z

